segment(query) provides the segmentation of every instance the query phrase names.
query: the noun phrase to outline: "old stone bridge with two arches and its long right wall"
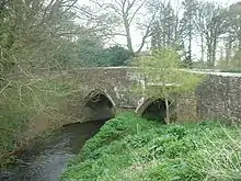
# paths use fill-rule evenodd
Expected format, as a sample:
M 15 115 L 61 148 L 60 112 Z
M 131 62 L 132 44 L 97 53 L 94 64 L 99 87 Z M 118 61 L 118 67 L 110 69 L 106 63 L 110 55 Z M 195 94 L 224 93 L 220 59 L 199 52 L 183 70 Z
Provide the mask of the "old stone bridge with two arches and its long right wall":
M 88 122 L 114 117 L 122 110 L 133 110 L 144 116 L 164 120 L 163 100 L 144 98 L 134 92 L 139 80 L 130 67 L 97 67 L 72 70 L 81 90 L 69 98 L 66 114 L 70 122 Z M 207 79 L 195 92 L 177 95 L 172 109 L 175 122 L 241 118 L 241 73 L 203 72 Z M 70 111 L 71 110 L 71 111 Z M 64 111 L 65 112 L 65 111 Z

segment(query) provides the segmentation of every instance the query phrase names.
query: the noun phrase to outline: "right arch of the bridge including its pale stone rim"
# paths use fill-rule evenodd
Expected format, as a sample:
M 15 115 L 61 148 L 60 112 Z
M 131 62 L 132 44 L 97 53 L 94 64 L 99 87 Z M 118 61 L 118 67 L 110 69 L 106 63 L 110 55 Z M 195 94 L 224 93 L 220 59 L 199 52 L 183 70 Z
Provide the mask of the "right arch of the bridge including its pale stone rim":
M 173 112 L 173 106 L 170 106 L 170 114 Z M 136 109 L 136 113 L 148 120 L 159 120 L 165 124 L 165 101 L 161 98 L 149 98 L 142 100 L 142 102 Z

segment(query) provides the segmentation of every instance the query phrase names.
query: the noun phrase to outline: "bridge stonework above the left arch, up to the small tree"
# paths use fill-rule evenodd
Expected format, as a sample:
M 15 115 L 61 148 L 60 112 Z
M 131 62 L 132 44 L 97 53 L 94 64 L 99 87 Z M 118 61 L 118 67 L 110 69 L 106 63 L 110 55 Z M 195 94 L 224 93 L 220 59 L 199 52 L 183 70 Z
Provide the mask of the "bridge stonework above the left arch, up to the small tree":
M 82 86 L 84 97 L 91 90 L 106 92 L 118 108 L 136 108 L 139 95 L 131 91 L 134 79 L 130 76 L 131 68 L 128 67 L 100 67 L 84 68 L 72 71 Z

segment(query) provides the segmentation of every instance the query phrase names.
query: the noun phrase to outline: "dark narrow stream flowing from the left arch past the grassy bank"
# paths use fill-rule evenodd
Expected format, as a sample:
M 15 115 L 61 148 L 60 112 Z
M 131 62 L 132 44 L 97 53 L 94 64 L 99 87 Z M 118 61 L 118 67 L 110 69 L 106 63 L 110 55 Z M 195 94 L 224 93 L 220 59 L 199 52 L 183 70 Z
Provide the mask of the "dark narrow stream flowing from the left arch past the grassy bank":
M 106 121 L 67 125 L 33 148 L 25 150 L 22 163 L 13 167 L 0 181 L 58 181 L 68 160 L 78 155 L 85 140 L 96 134 Z

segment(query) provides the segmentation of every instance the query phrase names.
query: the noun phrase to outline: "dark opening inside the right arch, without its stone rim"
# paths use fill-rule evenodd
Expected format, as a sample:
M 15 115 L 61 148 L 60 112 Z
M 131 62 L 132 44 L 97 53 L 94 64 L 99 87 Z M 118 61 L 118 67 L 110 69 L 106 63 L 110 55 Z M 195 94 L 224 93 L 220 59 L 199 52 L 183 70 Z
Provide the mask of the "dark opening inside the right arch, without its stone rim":
M 170 104 L 170 102 L 169 102 Z M 147 120 L 156 120 L 165 124 L 167 106 L 165 101 L 158 99 L 152 101 L 141 113 L 141 116 Z

